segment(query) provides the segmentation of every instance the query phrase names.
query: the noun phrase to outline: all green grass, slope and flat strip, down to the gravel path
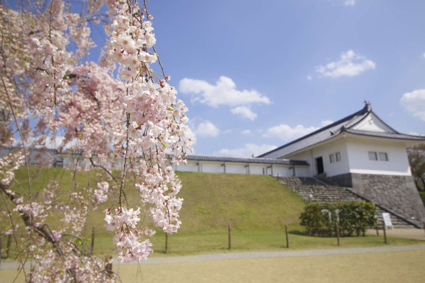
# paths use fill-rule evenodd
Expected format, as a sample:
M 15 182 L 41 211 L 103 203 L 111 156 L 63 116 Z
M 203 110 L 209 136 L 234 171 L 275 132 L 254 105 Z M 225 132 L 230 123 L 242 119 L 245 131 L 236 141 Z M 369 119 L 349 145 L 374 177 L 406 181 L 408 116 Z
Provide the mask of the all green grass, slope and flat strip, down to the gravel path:
M 119 177 L 119 172 L 116 176 Z M 183 188 L 179 197 L 184 199 L 180 212 L 183 222 L 177 234 L 169 236 L 168 252 L 170 255 L 188 255 L 227 251 L 227 225 L 232 226 L 232 251 L 272 250 L 286 247 L 284 227 L 288 225 L 291 249 L 331 248 L 336 246 L 335 238 L 309 237 L 297 231 L 303 230 L 298 224 L 298 217 L 305 202 L 289 188 L 268 176 L 245 174 L 208 174 L 177 172 Z M 91 188 L 99 181 L 100 170 L 91 171 Z M 32 191 L 38 191 L 55 179 L 62 187 L 61 198 L 68 199 L 71 188 L 72 172 L 61 168 L 31 168 Z M 20 168 L 16 177 L 23 188 L 28 187 L 26 171 Z M 119 178 L 118 178 L 119 179 Z M 77 174 L 79 188 L 87 188 L 88 172 Z M 129 178 L 125 186 L 130 207 L 137 207 L 139 193 Z M 19 191 L 17 185 L 14 190 Z M 117 201 L 118 192 L 111 195 L 108 202 L 97 210 L 89 212 L 88 224 L 96 229 L 94 252 L 111 254 L 112 233 L 104 228 L 102 210 L 111 207 Z M 39 196 L 40 198 L 40 196 Z M 39 199 L 38 199 L 39 200 Z M 37 199 L 36 199 L 37 201 Z M 54 216 L 50 216 L 53 218 Z M 143 217 L 141 217 L 143 218 Z M 17 223 L 20 219 L 16 216 Z M 144 221 L 152 226 L 149 217 Z M 0 223 L 0 229 L 5 224 Z M 20 229 L 22 229 L 22 225 Z M 164 233 L 156 228 L 156 235 L 150 238 L 156 253 L 163 255 Z M 86 228 L 87 240 L 90 242 L 91 228 Z M 390 244 L 415 244 L 419 241 L 388 238 Z M 360 247 L 383 245 L 382 237 L 348 237 L 341 239 L 342 247 Z M 13 257 L 12 257 L 13 258 Z

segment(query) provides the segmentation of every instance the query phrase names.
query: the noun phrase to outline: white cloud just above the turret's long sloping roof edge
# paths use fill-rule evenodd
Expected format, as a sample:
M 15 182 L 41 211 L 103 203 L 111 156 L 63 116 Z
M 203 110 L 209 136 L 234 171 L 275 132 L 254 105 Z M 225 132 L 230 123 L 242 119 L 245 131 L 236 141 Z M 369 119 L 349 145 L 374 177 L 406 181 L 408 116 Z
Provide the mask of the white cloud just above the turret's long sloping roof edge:
M 297 125 L 295 127 L 291 127 L 286 124 L 280 124 L 278 126 L 271 127 L 266 130 L 266 132 L 262 135 L 262 137 L 270 138 L 270 137 L 278 137 L 280 140 L 289 141 L 295 140 L 298 137 L 305 136 L 311 132 L 317 131 L 321 127 L 327 126 L 333 123 L 331 120 L 324 120 L 320 122 L 320 127 L 305 127 L 303 125 Z

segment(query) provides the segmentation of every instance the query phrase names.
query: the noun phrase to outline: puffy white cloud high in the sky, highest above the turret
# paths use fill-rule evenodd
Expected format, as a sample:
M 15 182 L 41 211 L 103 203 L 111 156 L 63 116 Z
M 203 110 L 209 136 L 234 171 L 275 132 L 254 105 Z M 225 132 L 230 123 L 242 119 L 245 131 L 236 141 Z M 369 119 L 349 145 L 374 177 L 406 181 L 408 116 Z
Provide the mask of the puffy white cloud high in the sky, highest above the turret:
M 325 77 L 357 76 L 365 70 L 374 69 L 376 63 L 365 56 L 348 50 L 340 55 L 340 60 L 330 62 L 325 66 L 317 66 L 316 72 Z

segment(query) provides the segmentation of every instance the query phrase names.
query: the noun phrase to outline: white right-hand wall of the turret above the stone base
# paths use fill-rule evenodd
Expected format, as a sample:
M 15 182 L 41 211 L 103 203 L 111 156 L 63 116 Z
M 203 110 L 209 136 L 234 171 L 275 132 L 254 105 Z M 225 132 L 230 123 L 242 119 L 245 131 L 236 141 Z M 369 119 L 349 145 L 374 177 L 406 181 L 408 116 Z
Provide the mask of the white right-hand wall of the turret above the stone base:
M 350 172 L 358 174 L 403 175 L 410 176 L 411 170 L 403 143 L 371 142 L 349 138 L 347 140 Z M 385 152 L 388 161 L 369 160 L 368 152 Z

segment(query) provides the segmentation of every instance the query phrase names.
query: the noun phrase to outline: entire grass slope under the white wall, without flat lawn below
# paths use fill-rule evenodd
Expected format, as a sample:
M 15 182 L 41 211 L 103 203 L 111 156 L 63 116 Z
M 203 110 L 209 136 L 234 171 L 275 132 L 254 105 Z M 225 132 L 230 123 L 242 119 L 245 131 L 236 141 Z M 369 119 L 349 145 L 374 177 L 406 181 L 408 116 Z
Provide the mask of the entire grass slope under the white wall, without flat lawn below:
M 116 172 L 119 176 L 119 172 Z M 62 168 L 31 167 L 32 192 L 42 191 L 51 180 L 59 182 L 61 199 L 66 201 L 71 189 L 73 172 Z M 90 185 L 96 188 L 100 170 L 91 171 Z M 178 197 L 184 199 L 180 211 L 181 233 L 197 233 L 223 230 L 228 224 L 237 230 L 280 230 L 285 224 L 296 225 L 303 210 L 303 200 L 277 180 L 264 175 L 210 174 L 177 172 L 182 182 Z M 28 188 L 25 168 L 16 172 L 16 179 L 23 188 Z M 130 207 L 139 205 L 139 192 L 129 180 L 125 186 Z M 80 189 L 88 187 L 88 172 L 78 172 L 75 181 Z M 13 185 L 17 192 L 20 188 Z M 118 191 L 108 202 L 89 212 L 89 224 L 99 233 L 107 233 L 103 227 L 103 209 L 116 203 Z M 40 198 L 40 196 L 39 196 Z M 40 199 L 38 199 L 40 200 Z M 36 198 L 37 201 L 37 198 Z M 149 219 L 145 224 L 151 225 Z M 157 229 L 159 232 L 161 229 Z M 102 231 L 102 232 L 101 232 Z

